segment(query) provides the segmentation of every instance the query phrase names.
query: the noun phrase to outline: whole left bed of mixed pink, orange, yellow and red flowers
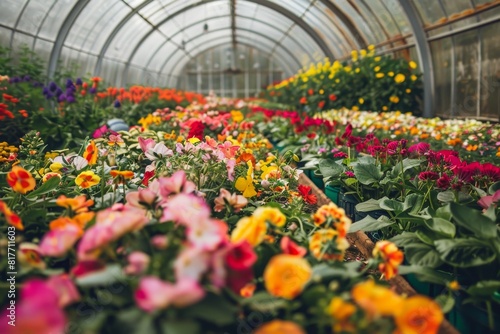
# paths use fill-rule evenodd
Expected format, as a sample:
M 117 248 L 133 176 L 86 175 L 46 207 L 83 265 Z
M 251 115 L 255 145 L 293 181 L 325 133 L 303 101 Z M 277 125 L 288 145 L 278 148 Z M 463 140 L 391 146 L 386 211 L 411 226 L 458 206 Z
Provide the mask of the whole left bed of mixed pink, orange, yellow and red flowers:
M 437 331 L 437 303 L 370 274 L 393 277 L 401 251 L 344 262 L 351 220 L 318 207 L 297 157 L 270 152 L 241 111 L 151 117 L 62 152 L 23 138 L 0 181 L 20 293 L 2 332 Z

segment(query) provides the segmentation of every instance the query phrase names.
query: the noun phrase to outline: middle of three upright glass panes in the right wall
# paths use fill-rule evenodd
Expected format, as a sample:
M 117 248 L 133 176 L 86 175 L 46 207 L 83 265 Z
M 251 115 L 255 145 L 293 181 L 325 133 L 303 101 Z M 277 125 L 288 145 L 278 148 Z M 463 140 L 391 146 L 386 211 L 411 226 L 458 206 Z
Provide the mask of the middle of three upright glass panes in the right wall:
M 458 117 L 476 116 L 478 80 L 478 34 L 468 31 L 453 37 L 455 42 L 456 113 Z

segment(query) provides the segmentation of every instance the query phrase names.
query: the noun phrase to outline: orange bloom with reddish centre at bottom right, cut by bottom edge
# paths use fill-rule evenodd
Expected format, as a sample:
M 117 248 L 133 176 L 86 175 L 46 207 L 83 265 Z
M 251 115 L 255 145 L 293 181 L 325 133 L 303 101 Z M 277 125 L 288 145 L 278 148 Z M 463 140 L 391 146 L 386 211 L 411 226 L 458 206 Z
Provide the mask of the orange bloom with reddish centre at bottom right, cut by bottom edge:
M 396 333 L 434 334 L 443 321 L 443 312 L 436 302 L 426 296 L 416 295 L 396 307 Z

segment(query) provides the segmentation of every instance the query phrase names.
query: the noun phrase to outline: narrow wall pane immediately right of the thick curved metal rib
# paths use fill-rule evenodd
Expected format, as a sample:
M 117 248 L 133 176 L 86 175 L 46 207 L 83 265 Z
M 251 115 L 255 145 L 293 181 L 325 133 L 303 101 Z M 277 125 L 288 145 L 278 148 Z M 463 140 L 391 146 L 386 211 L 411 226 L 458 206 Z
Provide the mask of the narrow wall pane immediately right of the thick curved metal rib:
M 452 62 L 453 49 L 451 38 L 430 43 L 434 69 L 434 110 L 437 116 L 451 117 Z

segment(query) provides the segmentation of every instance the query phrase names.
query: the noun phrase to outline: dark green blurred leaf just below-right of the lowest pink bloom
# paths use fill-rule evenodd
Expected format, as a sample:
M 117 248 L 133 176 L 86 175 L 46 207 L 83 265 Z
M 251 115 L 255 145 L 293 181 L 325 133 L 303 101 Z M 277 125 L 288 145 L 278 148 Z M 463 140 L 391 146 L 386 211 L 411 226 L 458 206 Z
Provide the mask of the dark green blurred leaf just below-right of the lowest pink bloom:
M 224 297 L 208 293 L 199 303 L 186 308 L 185 314 L 211 322 L 217 326 L 227 326 L 236 322 L 238 309 Z

